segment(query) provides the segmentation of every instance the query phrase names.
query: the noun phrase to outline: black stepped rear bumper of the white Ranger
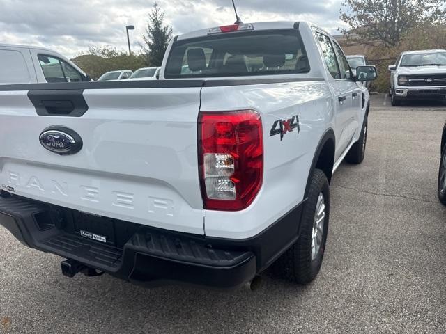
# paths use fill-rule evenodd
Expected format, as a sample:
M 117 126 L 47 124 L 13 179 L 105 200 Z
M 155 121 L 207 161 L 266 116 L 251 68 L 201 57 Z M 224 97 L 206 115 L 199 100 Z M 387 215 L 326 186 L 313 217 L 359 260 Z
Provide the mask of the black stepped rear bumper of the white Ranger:
M 17 196 L 0 197 L 0 225 L 26 246 L 139 285 L 225 289 L 249 282 L 293 244 L 298 237 L 301 207 L 246 240 L 214 239 L 116 221 L 130 231 L 130 237 L 103 243 L 70 230 L 69 213 L 73 210 Z M 61 223 L 55 216 L 63 216 L 67 222 Z

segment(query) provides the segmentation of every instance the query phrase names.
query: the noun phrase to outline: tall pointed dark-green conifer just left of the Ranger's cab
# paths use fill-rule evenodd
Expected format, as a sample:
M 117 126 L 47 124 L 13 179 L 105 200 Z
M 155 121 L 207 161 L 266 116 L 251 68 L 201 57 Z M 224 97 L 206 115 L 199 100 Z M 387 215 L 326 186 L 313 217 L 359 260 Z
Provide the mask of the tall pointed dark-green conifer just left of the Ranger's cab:
M 143 36 L 146 45 L 146 63 L 160 66 L 172 37 L 172 29 L 170 26 L 164 26 L 164 12 L 156 2 L 148 15 L 146 34 Z

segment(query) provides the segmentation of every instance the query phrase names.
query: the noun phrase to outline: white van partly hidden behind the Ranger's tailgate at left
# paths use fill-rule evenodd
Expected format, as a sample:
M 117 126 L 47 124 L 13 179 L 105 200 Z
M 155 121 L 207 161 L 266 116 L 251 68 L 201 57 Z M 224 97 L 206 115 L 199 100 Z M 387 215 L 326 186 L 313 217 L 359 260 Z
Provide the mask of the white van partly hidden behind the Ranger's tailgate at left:
M 89 75 L 56 51 L 0 44 L 0 85 L 91 81 Z

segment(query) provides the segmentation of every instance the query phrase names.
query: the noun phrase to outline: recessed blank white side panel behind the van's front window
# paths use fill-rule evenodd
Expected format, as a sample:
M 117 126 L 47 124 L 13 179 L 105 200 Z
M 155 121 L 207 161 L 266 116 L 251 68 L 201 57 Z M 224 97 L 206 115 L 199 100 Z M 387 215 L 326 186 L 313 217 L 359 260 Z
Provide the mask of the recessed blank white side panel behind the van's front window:
M 19 51 L 0 50 L 0 83 L 29 84 L 31 76 Z

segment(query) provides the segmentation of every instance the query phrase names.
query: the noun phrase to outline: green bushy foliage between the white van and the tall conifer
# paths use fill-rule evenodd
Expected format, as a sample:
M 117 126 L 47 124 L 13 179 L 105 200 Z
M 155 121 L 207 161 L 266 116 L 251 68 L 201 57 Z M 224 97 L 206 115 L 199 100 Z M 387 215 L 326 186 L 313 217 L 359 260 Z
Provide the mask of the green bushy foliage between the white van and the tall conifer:
M 92 79 L 98 79 L 102 74 L 114 70 L 132 70 L 146 66 L 144 54 L 132 54 L 114 47 L 89 47 L 87 54 L 82 54 L 72 61 L 90 74 Z

